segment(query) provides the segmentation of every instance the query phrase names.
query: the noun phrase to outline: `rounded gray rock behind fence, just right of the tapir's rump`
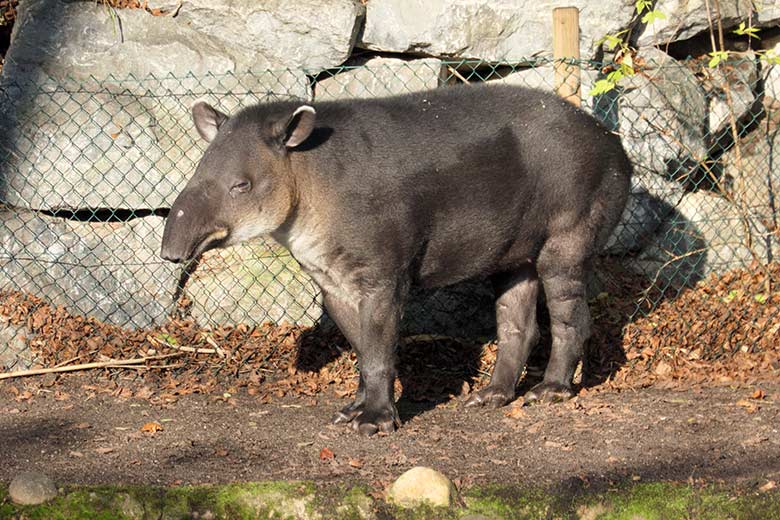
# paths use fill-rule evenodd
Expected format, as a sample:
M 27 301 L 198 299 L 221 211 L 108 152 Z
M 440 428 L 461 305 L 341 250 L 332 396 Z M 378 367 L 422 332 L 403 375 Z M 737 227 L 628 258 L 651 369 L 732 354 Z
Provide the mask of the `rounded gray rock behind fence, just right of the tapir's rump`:
M 693 73 L 670 56 L 642 49 L 643 74 L 620 83 L 618 126 L 636 171 L 683 181 L 707 155 L 707 101 Z

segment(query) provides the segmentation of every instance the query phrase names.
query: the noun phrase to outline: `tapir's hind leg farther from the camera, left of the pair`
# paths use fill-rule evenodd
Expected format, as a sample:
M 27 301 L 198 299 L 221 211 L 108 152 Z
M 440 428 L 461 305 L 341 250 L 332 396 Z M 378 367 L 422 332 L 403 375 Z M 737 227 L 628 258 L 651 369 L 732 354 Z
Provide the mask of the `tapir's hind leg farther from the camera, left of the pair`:
M 515 398 L 515 385 L 531 349 L 539 341 L 536 299 L 539 280 L 530 264 L 491 278 L 496 291 L 498 358 L 488 386 L 475 392 L 466 406 L 497 408 Z

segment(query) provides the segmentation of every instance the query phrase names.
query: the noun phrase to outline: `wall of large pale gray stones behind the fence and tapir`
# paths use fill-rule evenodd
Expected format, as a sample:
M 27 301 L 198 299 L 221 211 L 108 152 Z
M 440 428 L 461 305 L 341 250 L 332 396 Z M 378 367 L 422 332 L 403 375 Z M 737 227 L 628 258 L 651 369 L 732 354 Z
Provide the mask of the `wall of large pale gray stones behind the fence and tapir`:
M 721 73 L 654 46 L 681 48 L 706 31 L 703 2 L 659 1 L 667 18 L 645 26 L 629 0 L 150 1 L 167 10 L 162 16 L 27 0 L 0 77 L 0 289 L 143 327 L 166 319 L 185 280 L 191 316 L 204 324 L 317 321 L 316 287 L 274 244 L 212 253 L 190 276 L 157 257 L 158 215 L 203 151 L 192 102 L 232 112 L 266 100 L 393 95 L 464 79 L 551 89 L 552 9 L 564 4 L 581 9 L 583 58 L 605 58 L 601 38 L 631 29 L 645 63 L 618 91 L 585 96 L 584 108 L 621 135 L 636 169 L 607 252 L 674 284 L 756 256 L 775 259 L 777 132 L 763 139 L 753 123 L 773 121 L 780 66 L 748 52 Z M 720 5 L 727 30 L 751 13 L 769 34 L 780 23 L 772 5 Z M 602 71 L 583 65 L 587 94 Z M 724 84 L 750 145 L 740 161 L 727 138 Z M 747 213 L 745 199 L 756 202 Z M 487 301 L 484 287 L 423 295 L 407 313 L 419 318 L 409 329 L 484 332 L 489 317 L 468 309 Z

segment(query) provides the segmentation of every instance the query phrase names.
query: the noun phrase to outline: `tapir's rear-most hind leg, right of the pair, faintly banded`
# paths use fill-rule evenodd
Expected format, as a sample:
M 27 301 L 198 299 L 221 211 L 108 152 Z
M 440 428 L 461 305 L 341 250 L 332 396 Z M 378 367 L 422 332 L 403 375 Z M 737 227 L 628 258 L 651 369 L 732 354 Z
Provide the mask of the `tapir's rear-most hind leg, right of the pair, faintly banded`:
M 590 336 L 585 272 L 592 247 L 587 230 L 575 228 L 549 239 L 539 255 L 537 270 L 550 312 L 552 351 L 544 380 L 525 395 L 529 403 L 574 395 L 572 379 Z

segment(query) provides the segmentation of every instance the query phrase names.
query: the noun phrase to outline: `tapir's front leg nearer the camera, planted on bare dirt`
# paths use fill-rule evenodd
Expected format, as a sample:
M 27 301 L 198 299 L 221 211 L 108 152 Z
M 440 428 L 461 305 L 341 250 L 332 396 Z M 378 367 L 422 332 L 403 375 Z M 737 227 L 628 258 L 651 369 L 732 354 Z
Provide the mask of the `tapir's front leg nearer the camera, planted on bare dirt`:
M 360 330 L 352 347 L 358 358 L 363 399 L 347 407 L 344 419 L 350 418 L 353 428 L 365 435 L 378 431 L 390 433 L 400 426 L 393 385 L 395 347 L 405 293 L 394 285 L 374 289 L 358 301 Z

